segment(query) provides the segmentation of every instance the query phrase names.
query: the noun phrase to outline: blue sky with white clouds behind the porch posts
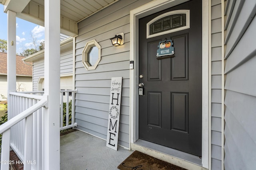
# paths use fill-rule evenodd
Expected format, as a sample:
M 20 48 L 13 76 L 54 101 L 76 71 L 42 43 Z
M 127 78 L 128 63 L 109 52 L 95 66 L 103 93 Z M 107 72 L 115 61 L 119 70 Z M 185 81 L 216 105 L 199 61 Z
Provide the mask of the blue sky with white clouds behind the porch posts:
M 44 41 L 44 27 L 16 17 L 16 53 L 34 48 L 32 36 L 38 44 Z M 0 5 L 0 39 L 7 40 L 7 14 L 3 5 Z

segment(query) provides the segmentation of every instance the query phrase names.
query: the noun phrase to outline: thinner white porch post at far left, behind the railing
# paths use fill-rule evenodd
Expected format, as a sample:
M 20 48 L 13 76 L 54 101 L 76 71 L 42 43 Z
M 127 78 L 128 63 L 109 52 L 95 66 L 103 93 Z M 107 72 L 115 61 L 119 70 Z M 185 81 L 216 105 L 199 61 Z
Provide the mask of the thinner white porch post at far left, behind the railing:
M 10 10 L 7 11 L 7 49 L 7 98 L 9 100 L 9 93 L 16 92 L 16 13 Z M 10 112 L 10 105 L 8 105 L 8 115 Z

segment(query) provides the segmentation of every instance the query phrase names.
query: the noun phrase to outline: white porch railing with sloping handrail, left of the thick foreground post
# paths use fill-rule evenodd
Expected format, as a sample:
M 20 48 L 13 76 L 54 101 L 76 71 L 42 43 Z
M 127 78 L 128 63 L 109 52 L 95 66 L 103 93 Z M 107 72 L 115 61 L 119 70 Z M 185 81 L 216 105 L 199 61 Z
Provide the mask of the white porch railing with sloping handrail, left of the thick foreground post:
M 43 107 L 48 103 L 48 96 L 11 92 L 8 102 L 8 121 L 0 126 L 0 133 L 3 133 L 1 170 L 8 170 L 10 163 L 16 163 L 9 161 L 10 146 L 21 161 L 32 161 L 31 164 L 24 164 L 24 169 L 40 169 L 43 158 L 42 114 Z

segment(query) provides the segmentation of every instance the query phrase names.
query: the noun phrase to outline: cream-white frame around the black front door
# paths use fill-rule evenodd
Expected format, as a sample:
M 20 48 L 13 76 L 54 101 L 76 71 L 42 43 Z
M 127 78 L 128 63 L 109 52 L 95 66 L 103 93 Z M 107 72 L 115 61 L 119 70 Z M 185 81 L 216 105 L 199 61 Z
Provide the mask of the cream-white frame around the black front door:
M 154 0 L 130 11 L 130 145 L 138 140 L 138 20 L 161 10 L 182 4 L 188 0 Z M 202 0 L 202 166 L 210 165 L 210 91 L 209 91 L 209 16 L 210 0 Z M 130 146 L 131 147 L 131 146 Z

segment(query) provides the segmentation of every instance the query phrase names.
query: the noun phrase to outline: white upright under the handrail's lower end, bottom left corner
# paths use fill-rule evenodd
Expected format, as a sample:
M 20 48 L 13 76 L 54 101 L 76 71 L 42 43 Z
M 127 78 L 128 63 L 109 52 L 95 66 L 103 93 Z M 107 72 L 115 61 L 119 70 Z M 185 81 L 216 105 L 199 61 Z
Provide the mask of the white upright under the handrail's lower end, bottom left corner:
M 2 151 L 1 151 L 1 162 L 6 161 L 6 163 L 1 163 L 1 170 L 9 170 L 9 164 L 7 161 L 10 160 L 10 129 L 7 129 L 2 134 Z

